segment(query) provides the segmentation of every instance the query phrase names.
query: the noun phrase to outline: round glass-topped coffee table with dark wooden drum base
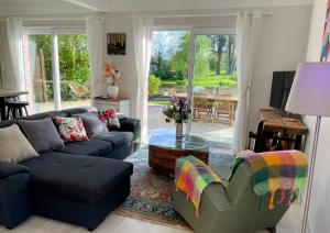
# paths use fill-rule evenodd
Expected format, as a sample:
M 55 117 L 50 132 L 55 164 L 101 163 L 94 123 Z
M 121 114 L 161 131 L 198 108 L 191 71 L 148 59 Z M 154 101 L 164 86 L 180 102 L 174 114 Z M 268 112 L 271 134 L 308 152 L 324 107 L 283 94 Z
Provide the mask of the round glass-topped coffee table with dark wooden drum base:
M 209 143 L 202 137 L 175 134 L 154 135 L 148 140 L 148 165 L 157 171 L 175 173 L 175 162 L 182 156 L 193 155 L 208 164 Z

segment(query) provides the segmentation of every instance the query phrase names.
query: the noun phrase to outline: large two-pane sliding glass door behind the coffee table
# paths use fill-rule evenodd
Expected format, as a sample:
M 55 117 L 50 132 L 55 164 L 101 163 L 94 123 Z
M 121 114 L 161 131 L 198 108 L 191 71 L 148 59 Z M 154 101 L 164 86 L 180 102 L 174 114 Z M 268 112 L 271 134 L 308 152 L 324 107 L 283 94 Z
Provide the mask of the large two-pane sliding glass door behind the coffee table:
M 184 98 L 193 103 L 186 133 L 230 148 L 238 104 L 234 30 L 154 31 L 152 45 L 148 136 L 175 133 L 163 109 L 170 98 Z

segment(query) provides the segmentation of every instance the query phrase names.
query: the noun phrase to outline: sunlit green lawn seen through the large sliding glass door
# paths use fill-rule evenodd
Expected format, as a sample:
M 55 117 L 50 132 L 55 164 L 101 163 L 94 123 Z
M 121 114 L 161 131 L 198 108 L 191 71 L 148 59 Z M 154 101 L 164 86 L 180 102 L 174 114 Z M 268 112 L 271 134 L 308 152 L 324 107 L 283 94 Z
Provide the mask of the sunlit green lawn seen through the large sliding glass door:
M 162 80 L 161 86 L 176 86 L 177 80 Z M 237 79 L 230 75 L 221 74 L 216 75 L 215 73 L 210 73 L 208 76 L 196 75 L 194 78 L 194 86 L 202 86 L 202 87 L 237 87 Z

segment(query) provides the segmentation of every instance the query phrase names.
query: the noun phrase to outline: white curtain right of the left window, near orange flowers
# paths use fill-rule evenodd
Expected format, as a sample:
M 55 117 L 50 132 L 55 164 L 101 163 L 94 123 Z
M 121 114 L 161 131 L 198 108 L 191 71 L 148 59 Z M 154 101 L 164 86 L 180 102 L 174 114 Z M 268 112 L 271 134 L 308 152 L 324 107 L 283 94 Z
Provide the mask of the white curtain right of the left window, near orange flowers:
M 86 18 L 91 97 L 103 95 L 103 22 L 99 16 Z

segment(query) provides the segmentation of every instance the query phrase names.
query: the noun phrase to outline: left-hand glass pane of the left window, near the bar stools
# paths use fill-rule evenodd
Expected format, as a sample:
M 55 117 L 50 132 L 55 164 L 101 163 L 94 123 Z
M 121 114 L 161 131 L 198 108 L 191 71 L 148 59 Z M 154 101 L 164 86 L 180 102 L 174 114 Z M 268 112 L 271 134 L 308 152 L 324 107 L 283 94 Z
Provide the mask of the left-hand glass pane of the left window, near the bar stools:
M 23 36 L 29 113 L 54 110 L 51 35 Z

